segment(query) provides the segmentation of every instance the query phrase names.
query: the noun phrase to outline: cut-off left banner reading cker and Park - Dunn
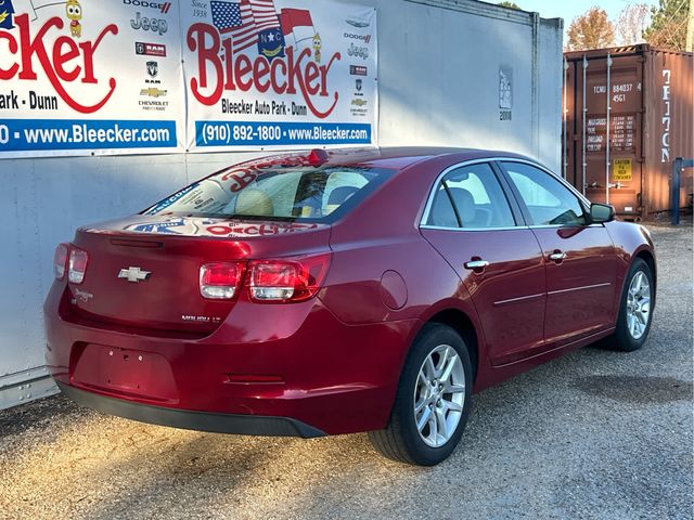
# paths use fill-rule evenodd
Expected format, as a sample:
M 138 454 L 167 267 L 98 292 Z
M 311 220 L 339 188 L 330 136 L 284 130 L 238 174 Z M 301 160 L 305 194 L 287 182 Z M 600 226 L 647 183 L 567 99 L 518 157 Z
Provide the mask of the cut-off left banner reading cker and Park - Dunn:
M 178 5 L 0 0 L 0 158 L 182 151 Z

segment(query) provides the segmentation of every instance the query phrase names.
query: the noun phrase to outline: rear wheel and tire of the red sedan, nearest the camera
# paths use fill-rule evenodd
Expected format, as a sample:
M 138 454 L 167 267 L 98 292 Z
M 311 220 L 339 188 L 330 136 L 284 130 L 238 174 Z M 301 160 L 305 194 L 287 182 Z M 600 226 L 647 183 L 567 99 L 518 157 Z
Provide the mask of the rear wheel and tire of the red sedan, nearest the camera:
M 387 427 L 369 432 L 373 446 L 406 464 L 434 466 L 446 459 L 467 422 L 472 374 L 460 335 L 442 324 L 426 324 L 402 368 Z

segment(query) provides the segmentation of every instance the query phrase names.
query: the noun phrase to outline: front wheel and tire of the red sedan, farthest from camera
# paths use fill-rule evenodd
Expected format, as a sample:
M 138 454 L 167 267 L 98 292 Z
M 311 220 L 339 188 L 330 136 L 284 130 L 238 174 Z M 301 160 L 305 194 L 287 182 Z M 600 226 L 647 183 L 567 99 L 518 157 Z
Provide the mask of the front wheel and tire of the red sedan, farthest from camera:
M 622 352 L 633 352 L 643 347 L 653 322 L 654 297 L 653 271 L 644 260 L 637 258 L 629 269 L 621 291 L 617 328 L 611 337 L 606 338 L 603 346 Z M 644 309 L 647 311 L 645 314 Z

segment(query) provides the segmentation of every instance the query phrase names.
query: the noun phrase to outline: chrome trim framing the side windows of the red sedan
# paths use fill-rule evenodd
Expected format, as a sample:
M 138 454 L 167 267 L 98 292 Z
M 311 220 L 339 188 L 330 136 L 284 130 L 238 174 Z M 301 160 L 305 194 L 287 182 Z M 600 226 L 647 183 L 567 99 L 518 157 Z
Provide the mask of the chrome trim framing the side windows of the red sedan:
M 436 186 L 439 185 L 439 183 L 444 180 L 444 178 L 450 173 L 453 170 L 457 170 L 459 168 L 463 168 L 465 166 L 473 166 L 473 165 L 479 165 L 479 164 L 488 164 L 489 167 L 493 170 L 493 168 L 491 167 L 491 162 L 520 162 L 524 165 L 528 165 L 528 166 L 532 166 L 535 168 L 538 168 L 539 170 L 544 171 L 545 173 L 552 176 L 554 179 L 556 179 L 557 181 L 560 181 L 560 183 L 562 185 L 564 185 L 565 187 L 568 188 L 569 192 L 571 192 L 574 195 L 576 195 L 576 197 L 579 199 L 579 202 L 581 202 L 583 204 L 583 210 L 586 210 L 587 208 L 590 208 L 590 202 L 588 200 L 588 198 L 586 198 L 580 192 L 578 192 L 574 186 L 571 186 L 568 181 L 566 181 L 565 179 L 562 179 L 560 176 L 552 173 L 552 170 L 550 170 L 549 168 L 545 168 L 544 166 L 530 160 L 530 159 L 522 159 L 519 157 L 485 157 L 485 158 L 479 158 L 479 159 L 470 159 L 470 160 L 463 160 L 462 162 L 458 162 L 455 165 L 449 166 L 448 168 L 446 168 L 442 172 L 440 172 L 438 174 L 438 177 L 436 178 L 436 180 L 434 181 L 433 186 L 429 188 L 429 195 L 426 199 L 426 206 L 424 206 L 424 213 L 422 213 L 422 218 L 420 219 L 420 229 L 424 229 L 424 230 L 446 230 L 446 231 L 510 231 L 510 230 L 520 230 L 520 229 L 541 229 L 541 227 L 569 227 L 566 224 L 552 224 L 552 225 L 525 225 L 525 224 L 518 224 L 518 225 L 514 225 L 514 226 L 506 226 L 506 227 L 448 227 L 448 226 L 442 226 L 442 225 L 429 225 L 426 222 L 429 220 L 429 213 L 432 211 L 432 206 L 434 205 L 434 197 L 436 196 Z M 503 185 L 501 185 L 501 188 L 504 191 L 505 193 L 505 188 Z M 511 208 L 511 205 L 509 205 L 509 209 Z M 512 211 L 513 214 L 513 211 Z M 587 226 L 592 227 L 592 226 L 600 226 L 602 224 L 588 224 Z M 581 227 L 586 227 L 586 225 L 581 226 Z

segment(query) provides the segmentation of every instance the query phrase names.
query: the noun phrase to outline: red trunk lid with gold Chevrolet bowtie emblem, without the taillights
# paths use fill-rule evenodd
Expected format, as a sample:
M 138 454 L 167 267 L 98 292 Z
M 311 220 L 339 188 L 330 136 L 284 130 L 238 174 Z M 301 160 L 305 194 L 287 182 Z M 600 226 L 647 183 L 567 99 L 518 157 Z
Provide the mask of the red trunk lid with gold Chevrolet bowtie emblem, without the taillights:
M 89 260 L 83 282 L 68 284 L 72 311 L 126 327 L 211 333 L 237 298 L 204 298 L 202 264 L 326 251 L 329 236 L 325 224 L 171 216 L 83 227 L 74 246 Z

